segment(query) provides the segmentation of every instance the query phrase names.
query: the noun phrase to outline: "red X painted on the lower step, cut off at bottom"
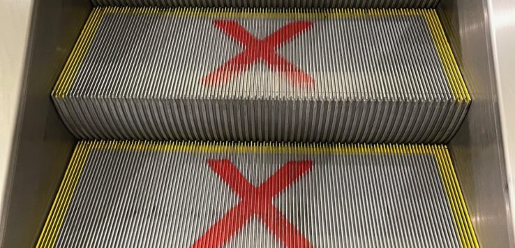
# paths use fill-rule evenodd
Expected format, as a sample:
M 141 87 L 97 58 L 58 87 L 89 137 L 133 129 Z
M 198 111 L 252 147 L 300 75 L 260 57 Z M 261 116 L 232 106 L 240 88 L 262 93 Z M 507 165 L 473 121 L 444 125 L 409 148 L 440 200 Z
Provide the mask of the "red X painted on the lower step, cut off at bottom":
M 308 240 L 274 207 L 272 199 L 304 175 L 313 165 L 313 161 L 289 161 L 260 187 L 255 187 L 248 182 L 230 160 L 208 160 L 207 163 L 241 198 L 241 201 L 222 219 L 216 221 L 193 244 L 194 248 L 220 247 L 230 240 L 254 214 L 260 217 L 271 233 L 276 235 L 285 246 L 311 247 Z

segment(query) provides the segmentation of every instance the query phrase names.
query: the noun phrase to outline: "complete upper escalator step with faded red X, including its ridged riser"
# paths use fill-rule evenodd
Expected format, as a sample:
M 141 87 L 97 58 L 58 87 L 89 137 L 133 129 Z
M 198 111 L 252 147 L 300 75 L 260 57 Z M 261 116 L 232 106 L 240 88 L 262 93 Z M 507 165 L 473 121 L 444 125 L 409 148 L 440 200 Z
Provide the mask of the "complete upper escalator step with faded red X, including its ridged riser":
M 445 143 L 470 103 L 434 10 L 95 8 L 52 96 L 85 139 Z

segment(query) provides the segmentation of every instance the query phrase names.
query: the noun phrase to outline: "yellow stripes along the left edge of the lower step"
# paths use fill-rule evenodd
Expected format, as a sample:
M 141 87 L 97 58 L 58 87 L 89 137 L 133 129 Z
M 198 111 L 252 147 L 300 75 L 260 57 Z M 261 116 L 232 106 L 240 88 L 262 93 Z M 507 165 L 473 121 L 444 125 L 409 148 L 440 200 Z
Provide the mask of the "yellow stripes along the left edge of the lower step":
M 50 213 L 48 214 L 45 226 L 43 226 L 43 231 L 41 231 L 36 247 L 54 247 L 73 197 L 73 192 L 75 191 L 77 182 L 79 182 L 84 163 L 86 163 L 87 156 L 91 149 L 97 145 L 97 143 L 80 142 L 77 147 L 75 147 L 75 151 L 66 169 L 59 191 L 57 191 L 54 203 L 52 203 Z

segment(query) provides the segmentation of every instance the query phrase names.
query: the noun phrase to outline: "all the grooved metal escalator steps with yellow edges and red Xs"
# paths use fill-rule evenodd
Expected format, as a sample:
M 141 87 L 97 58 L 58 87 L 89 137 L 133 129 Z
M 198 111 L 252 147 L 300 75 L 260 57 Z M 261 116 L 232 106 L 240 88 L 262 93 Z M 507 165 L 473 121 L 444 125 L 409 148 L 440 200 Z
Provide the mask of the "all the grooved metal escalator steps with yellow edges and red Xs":
M 479 247 L 437 1 L 93 2 L 36 247 Z

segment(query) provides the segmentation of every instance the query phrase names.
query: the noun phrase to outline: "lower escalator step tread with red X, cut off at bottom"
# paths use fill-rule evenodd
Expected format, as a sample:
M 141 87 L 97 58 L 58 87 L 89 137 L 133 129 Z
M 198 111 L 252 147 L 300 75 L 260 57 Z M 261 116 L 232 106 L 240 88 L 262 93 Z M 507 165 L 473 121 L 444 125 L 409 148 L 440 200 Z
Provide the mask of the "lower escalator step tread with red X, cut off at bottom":
M 81 142 L 37 247 L 478 247 L 447 148 Z

